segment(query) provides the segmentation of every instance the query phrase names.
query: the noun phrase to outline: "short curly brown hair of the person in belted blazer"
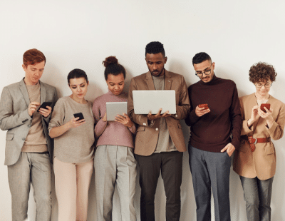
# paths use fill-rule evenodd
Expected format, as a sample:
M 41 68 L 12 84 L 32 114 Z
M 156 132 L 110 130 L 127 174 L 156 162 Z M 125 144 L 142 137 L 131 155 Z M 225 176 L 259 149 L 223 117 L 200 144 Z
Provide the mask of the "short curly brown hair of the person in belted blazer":
M 257 83 L 259 81 L 275 81 L 277 73 L 271 64 L 265 62 L 254 63 L 249 69 L 249 81 Z

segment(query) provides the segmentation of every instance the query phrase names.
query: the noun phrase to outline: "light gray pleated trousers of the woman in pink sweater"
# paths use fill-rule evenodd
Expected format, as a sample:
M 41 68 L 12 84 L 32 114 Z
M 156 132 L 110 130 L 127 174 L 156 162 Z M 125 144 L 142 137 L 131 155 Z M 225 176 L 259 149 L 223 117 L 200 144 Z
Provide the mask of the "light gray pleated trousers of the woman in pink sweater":
M 137 220 L 134 207 L 136 167 L 133 148 L 98 146 L 94 157 L 97 221 L 112 220 L 115 185 L 120 197 L 121 220 Z

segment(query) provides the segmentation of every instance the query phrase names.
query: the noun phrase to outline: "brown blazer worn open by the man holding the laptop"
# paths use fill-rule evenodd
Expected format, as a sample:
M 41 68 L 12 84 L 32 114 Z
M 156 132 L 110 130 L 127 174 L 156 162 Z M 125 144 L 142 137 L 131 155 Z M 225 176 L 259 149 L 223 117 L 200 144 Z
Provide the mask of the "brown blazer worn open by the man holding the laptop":
M 156 119 L 152 125 L 148 125 L 147 115 L 134 113 L 134 90 L 155 90 L 150 72 L 142 73 L 142 75 L 132 78 L 128 99 L 128 113 L 133 122 L 138 124 L 135 138 L 135 154 L 147 156 L 155 151 L 159 133 L 159 120 Z M 165 70 L 165 90 L 175 90 L 176 96 L 176 115 L 165 118 L 167 128 L 177 150 L 185 152 L 185 140 L 180 124 L 180 120 L 185 119 L 190 111 L 190 101 L 185 79 L 180 74 Z

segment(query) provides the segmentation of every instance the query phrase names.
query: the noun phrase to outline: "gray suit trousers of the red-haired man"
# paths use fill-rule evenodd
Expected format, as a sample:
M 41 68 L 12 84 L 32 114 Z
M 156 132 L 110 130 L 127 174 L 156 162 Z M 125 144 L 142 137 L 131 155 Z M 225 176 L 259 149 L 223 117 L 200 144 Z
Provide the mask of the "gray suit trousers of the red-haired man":
M 31 184 L 36 202 L 36 221 L 51 220 L 51 159 L 48 153 L 21 153 L 14 165 L 8 166 L 12 196 L 12 220 L 27 218 Z

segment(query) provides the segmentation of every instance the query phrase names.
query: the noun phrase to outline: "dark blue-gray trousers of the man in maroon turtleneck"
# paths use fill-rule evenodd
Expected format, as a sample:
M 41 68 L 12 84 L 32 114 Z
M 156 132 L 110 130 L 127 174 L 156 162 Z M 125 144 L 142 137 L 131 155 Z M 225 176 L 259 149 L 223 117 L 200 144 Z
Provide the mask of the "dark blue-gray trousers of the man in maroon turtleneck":
M 197 221 L 211 220 L 211 187 L 214 197 L 216 221 L 229 221 L 229 172 L 231 158 L 224 153 L 189 149 L 189 164 L 192 173 L 196 200 Z

